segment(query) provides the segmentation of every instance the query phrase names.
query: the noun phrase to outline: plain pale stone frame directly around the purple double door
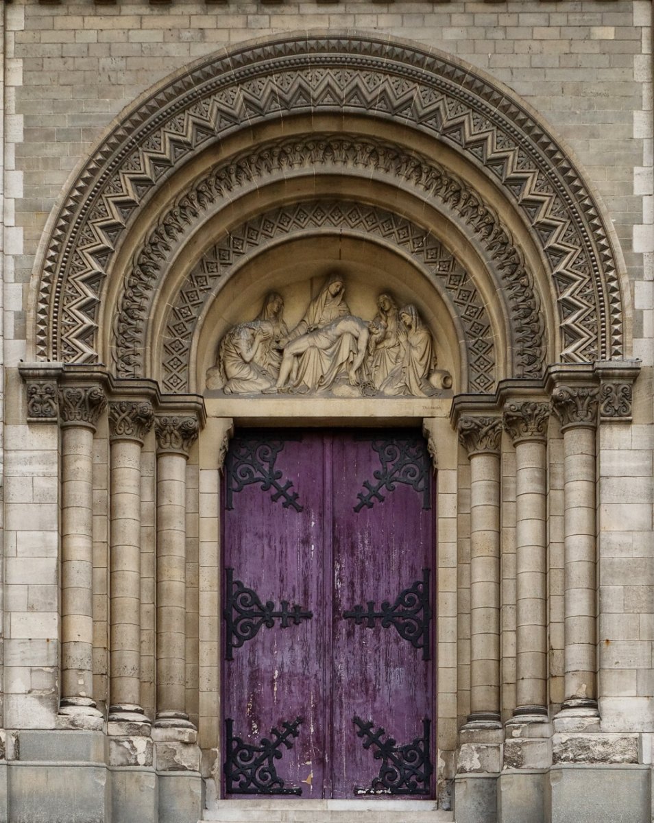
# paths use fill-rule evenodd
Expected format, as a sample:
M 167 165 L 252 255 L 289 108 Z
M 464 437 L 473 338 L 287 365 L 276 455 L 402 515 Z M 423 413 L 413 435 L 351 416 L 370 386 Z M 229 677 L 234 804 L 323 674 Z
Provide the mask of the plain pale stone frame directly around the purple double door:
M 199 741 L 204 751 L 211 751 L 210 764 L 216 779 L 216 791 L 220 789 L 222 770 L 222 574 L 221 546 L 222 524 L 216 512 L 220 512 L 222 469 L 225 454 L 234 434 L 234 428 L 409 428 L 420 429 L 427 440 L 434 467 L 434 500 L 436 505 L 435 532 L 436 558 L 434 565 L 433 600 L 434 620 L 432 643 L 438 645 L 434 668 L 434 742 L 433 764 L 436 793 L 444 775 L 449 773 L 446 763 L 451 764 L 457 747 L 457 584 L 458 535 L 457 489 L 466 464 L 459 464 L 456 433 L 449 421 L 449 402 L 406 400 L 391 402 L 396 412 L 374 416 L 369 401 L 317 401 L 298 400 L 279 402 L 277 415 L 271 415 L 268 403 L 236 400 L 233 402 L 206 398 L 207 421 L 202 430 L 198 465 L 198 537 L 199 537 L 199 682 L 200 700 Z M 325 416 L 327 410 L 333 415 Z M 379 404 L 378 404 L 379 407 Z M 247 409 L 247 416 L 243 414 Z M 227 416 L 225 412 L 236 412 Z M 240 413 L 239 413 L 240 412 Z M 371 414 L 371 412 L 373 412 Z M 399 412 L 399 413 L 398 413 Z M 408 413 L 407 413 L 408 412 Z M 410 412 L 414 412 L 411 414 Z M 417 412 L 417 413 L 416 413 Z M 424 416 L 429 412 L 430 416 Z M 464 480 L 465 482 L 465 480 Z M 461 514 L 461 508 L 458 509 Z M 281 798 L 283 801 L 283 798 Z M 250 801 L 250 803 L 257 801 Z M 271 802 L 270 797 L 262 802 Z M 286 802 L 294 802 L 286 801 Z M 295 801 L 296 802 L 296 801 Z M 309 801 L 305 801 L 309 802 Z M 312 801 L 313 802 L 313 801 Z M 327 802 L 327 801 L 326 801 Z M 331 802 L 331 801 L 329 801 Z M 338 801 L 340 804 L 343 801 Z M 350 801 L 346 801 L 349 803 Z M 362 808 L 361 799 L 351 801 Z M 383 805 L 375 798 L 375 807 Z M 406 801 L 403 801 L 403 803 Z M 424 803 L 425 800 L 415 802 Z

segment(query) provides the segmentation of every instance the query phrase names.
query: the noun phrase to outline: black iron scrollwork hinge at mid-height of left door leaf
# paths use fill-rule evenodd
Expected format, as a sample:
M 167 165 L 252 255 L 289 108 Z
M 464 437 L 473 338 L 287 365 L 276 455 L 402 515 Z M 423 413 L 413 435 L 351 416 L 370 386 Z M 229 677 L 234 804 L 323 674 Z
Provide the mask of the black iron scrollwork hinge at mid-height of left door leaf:
M 262 603 L 253 588 L 248 588 L 240 580 L 234 580 L 234 569 L 225 569 L 227 574 L 227 597 L 225 605 L 226 638 L 225 659 L 234 660 L 234 649 L 240 649 L 246 640 L 258 634 L 262 625 L 271 629 L 275 621 L 281 621 L 282 629 L 299 625 L 300 621 L 310 620 L 313 611 L 303 610 L 301 606 L 290 606 L 288 600 L 281 601 L 281 608 L 275 609 L 271 600 Z

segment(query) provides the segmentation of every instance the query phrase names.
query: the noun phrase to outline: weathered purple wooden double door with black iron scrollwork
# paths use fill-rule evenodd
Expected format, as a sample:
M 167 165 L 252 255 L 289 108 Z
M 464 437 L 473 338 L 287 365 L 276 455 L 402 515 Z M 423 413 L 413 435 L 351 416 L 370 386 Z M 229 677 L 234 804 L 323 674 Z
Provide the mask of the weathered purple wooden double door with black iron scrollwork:
M 432 797 L 432 483 L 406 430 L 232 440 L 227 797 Z

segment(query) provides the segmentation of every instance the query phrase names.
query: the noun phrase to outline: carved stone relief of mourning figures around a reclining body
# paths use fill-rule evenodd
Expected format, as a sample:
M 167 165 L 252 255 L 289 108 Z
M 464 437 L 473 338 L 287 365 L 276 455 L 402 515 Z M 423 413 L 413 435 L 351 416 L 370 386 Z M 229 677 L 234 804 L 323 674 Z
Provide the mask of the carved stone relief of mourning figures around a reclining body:
M 225 394 L 332 394 L 431 397 L 450 388 L 436 368 L 434 337 L 414 305 L 377 299 L 367 322 L 351 314 L 346 284 L 332 274 L 290 332 L 284 300 L 268 294 L 253 320 L 230 328 L 218 346 L 206 388 Z

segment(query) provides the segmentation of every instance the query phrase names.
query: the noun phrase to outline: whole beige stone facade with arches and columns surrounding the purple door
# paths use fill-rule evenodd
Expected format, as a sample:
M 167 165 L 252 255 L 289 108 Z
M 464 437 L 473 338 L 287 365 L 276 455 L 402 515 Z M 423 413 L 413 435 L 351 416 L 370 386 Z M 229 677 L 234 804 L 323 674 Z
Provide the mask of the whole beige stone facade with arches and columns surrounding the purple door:
M 651 3 L 0 25 L 0 820 L 654 819 Z M 413 307 L 402 379 L 307 319 L 334 271 L 362 346 L 380 295 Z M 207 382 L 270 294 L 329 392 Z M 431 800 L 224 796 L 222 470 L 263 425 L 424 431 Z

